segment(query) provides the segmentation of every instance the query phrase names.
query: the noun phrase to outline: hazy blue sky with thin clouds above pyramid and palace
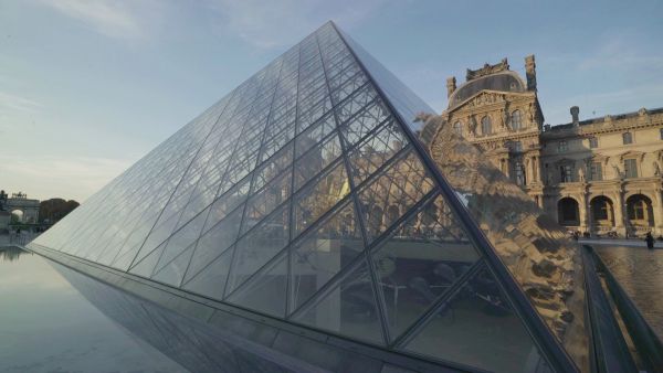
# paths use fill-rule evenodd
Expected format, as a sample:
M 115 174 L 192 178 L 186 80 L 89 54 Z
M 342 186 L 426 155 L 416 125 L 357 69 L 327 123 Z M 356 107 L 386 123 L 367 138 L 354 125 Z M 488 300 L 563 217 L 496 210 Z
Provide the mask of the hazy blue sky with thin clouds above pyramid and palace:
M 0 0 L 0 189 L 84 201 L 334 20 L 435 110 L 536 55 L 545 122 L 663 106 L 661 1 Z

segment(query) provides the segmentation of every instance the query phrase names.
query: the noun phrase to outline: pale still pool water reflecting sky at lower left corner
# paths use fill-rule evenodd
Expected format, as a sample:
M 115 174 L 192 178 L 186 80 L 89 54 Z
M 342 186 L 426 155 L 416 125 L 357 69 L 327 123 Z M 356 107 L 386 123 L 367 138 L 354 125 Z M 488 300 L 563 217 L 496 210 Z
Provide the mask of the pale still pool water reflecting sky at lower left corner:
M 0 372 L 187 372 L 92 306 L 46 259 L 0 247 Z

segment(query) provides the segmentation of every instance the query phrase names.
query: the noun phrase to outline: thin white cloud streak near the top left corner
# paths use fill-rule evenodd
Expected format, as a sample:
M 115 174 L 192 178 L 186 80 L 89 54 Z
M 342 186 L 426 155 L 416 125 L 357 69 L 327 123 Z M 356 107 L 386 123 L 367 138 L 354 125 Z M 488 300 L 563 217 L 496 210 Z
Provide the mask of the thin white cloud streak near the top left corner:
M 73 18 L 96 32 L 116 39 L 145 39 L 147 29 L 138 17 L 135 4 L 112 0 L 56 0 L 43 1 L 45 6 Z

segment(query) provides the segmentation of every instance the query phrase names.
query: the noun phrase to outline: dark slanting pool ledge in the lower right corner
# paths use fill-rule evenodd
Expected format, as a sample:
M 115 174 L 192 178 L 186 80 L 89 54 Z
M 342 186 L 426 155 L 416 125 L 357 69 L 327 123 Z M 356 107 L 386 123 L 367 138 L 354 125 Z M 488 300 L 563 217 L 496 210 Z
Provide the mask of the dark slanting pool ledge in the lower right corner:
M 587 313 L 592 338 L 592 371 L 663 372 L 661 340 L 591 246 L 583 245 L 583 262 Z M 624 331 L 620 329 L 617 316 L 621 318 Z M 636 366 L 624 333 L 630 337 L 639 358 L 638 365 L 641 366 Z

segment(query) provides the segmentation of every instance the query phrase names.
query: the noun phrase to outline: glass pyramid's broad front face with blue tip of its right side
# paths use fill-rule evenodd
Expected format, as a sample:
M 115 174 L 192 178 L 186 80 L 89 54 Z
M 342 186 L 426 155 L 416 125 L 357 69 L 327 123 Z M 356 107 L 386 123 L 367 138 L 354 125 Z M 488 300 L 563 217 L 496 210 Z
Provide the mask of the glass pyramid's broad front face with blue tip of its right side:
M 415 138 L 419 111 L 328 22 L 31 245 L 454 367 L 575 370 Z

